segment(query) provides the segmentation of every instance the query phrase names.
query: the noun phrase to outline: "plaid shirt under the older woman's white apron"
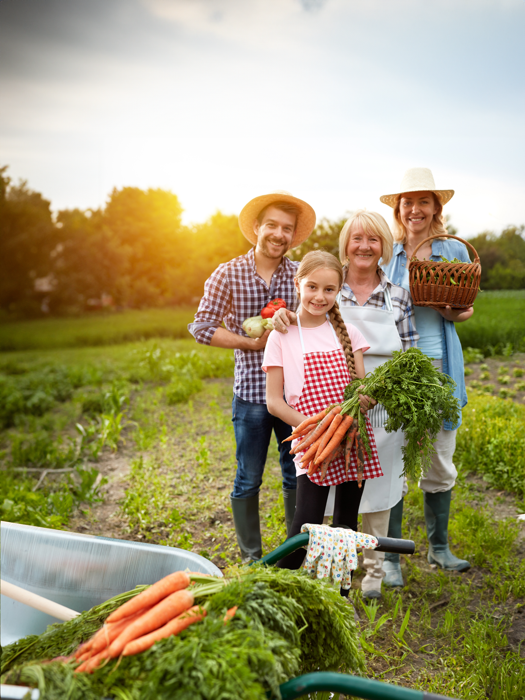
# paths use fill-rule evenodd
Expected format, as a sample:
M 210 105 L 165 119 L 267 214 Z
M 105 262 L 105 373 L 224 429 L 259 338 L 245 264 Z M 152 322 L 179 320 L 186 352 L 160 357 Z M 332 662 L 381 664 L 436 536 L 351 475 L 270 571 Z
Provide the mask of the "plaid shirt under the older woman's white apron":
M 388 285 L 390 287 L 394 321 L 401 339 L 402 348 L 403 350 L 407 350 L 409 347 L 416 346 L 419 340 L 419 333 L 416 331 L 416 325 L 414 323 L 414 305 L 412 304 L 412 297 L 406 289 L 391 283 L 381 267 L 377 268 L 377 274 L 379 275 L 379 284 L 370 297 L 367 298 L 363 306 L 371 306 L 375 309 L 386 309 L 384 289 L 386 285 Z M 346 282 L 343 284 L 341 290 L 341 306 L 358 306 L 358 301 Z

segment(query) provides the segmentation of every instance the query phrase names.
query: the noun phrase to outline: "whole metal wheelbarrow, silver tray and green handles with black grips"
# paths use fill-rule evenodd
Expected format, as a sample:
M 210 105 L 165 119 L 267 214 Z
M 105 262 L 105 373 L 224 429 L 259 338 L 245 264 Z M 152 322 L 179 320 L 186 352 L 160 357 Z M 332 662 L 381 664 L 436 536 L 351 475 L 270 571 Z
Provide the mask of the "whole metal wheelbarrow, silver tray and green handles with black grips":
M 93 605 L 139 584 L 158 581 L 176 570 L 222 576 L 208 559 L 185 549 L 82 535 L 15 523 L 1 523 L 1 573 L 6 581 L 44 596 L 73 610 Z M 286 540 L 260 559 L 272 565 L 286 554 L 308 544 L 309 534 Z M 380 551 L 412 554 L 414 542 L 379 538 Z M 1 645 L 28 634 L 40 634 L 56 619 L 1 596 Z M 292 678 L 280 687 L 283 700 L 292 700 L 317 690 L 351 694 L 367 700 L 447 700 L 444 696 L 344 673 L 321 671 Z M 2 699 L 22 698 L 37 689 L 1 687 Z

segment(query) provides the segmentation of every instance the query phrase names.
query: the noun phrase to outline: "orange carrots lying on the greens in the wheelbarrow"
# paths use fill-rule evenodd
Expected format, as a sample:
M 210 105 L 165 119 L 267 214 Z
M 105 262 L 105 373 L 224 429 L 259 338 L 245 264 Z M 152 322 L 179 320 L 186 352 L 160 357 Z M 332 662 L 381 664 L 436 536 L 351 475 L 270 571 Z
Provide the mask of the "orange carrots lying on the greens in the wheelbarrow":
M 200 622 L 206 610 L 193 604 L 195 597 L 188 590 L 191 583 L 190 573 L 176 571 L 120 605 L 106 618 L 102 628 L 78 647 L 75 657 L 81 663 L 75 672 L 92 673 L 104 659 L 139 654 L 156 641 Z M 236 610 L 237 606 L 228 610 L 225 622 Z

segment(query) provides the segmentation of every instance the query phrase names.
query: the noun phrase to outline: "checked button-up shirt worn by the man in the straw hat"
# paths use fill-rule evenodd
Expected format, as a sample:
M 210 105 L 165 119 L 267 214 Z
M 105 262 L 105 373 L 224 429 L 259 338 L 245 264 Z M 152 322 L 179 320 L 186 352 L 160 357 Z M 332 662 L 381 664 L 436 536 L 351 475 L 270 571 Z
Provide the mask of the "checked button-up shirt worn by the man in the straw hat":
M 223 321 L 227 330 L 246 337 L 242 322 L 250 316 L 258 316 L 275 297 L 281 297 L 287 309 L 294 308 L 293 276 L 299 263 L 283 257 L 268 287 L 257 274 L 253 251 L 251 248 L 246 255 L 223 262 L 207 279 L 195 322 L 188 325 L 197 343 L 209 345 Z M 266 403 L 266 374 L 261 369 L 265 351 L 235 350 L 234 353 L 233 393 L 244 401 Z

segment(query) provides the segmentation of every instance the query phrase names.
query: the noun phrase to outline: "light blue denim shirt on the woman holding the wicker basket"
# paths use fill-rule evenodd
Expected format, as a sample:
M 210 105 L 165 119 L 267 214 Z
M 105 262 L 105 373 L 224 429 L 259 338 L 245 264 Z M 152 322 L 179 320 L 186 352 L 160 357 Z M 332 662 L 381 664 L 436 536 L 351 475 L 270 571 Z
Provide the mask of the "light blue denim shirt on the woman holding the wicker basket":
M 458 260 L 462 260 L 463 262 L 470 262 L 466 246 L 463 243 L 451 239 L 432 241 L 431 259 L 436 262 L 441 262 L 440 255 L 443 255 L 447 260 L 458 258 Z M 384 269 L 388 279 L 391 279 L 394 284 L 402 286 L 403 274 L 405 272 L 405 267 L 407 267 L 407 253 L 405 253 L 405 248 L 403 248 L 402 244 L 394 243 L 392 260 L 388 265 L 381 265 L 381 267 Z M 467 403 L 467 391 L 465 389 L 465 368 L 463 366 L 461 342 L 459 342 L 456 327 L 452 321 L 441 318 L 441 331 L 443 342 L 442 371 L 456 382 L 454 396 L 459 399 L 459 405 L 463 408 Z M 454 430 L 455 428 L 459 428 L 459 426 L 461 426 L 461 412 L 456 425 L 451 423 L 451 421 L 444 421 L 443 423 L 445 430 Z

